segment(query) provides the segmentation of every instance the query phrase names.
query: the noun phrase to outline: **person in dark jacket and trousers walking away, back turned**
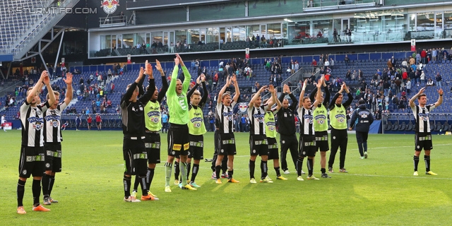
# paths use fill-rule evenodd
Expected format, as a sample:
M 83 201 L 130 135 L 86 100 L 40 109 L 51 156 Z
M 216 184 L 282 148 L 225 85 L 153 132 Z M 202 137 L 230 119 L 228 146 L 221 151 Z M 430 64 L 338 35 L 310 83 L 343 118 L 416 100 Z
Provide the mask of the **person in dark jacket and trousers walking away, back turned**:
M 366 108 L 364 100 L 359 100 L 358 104 L 358 109 L 352 114 L 349 130 L 352 130 L 356 125 L 359 155 L 361 155 L 361 159 L 364 159 L 367 158 L 367 137 L 369 136 L 369 127 L 374 122 L 374 115 Z

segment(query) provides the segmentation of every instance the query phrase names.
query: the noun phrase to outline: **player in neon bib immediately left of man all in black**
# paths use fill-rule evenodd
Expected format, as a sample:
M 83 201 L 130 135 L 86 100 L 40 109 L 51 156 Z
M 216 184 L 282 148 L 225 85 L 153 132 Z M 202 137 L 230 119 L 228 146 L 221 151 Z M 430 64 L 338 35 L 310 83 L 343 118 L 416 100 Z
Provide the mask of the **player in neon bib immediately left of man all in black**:
M 287 180 L 287 178 L 281 176 L 280 173 L 280 157 L 278 153 L 278 141 L 276 141 L 276 123 L 275 114 L 283 107 L 280 100 L 276 98 L 278 90 L 273 87 L 273 85 L 268 85 L 268 91 L 271 93 L 271 98 L 266 101 L 268 106 L 273 106 L 276 103 L 276 107 L 268 107 L 266 114 L 263 117 L 264 123 L 266 124 L 266 136 L 268 142 L 268 160 L 273 160 L 273 168 L 276 172 L 276 179 Z M 267 178 L 268 177 L 267 174 Z M 271 179 L 270 179 L 271 180 Z

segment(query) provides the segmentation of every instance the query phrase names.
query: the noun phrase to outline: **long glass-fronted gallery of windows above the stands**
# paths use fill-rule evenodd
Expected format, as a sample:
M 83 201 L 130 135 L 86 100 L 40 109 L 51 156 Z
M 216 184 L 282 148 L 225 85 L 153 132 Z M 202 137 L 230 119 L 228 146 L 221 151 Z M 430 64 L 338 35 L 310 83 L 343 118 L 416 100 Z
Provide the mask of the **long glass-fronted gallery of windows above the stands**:
M 266 4 L 275 2 L 266 1 Z M 238 7 L 235 8 L 237 11 L 244 12 L 243 4 L 242 6 L 225 4 L 224 8 L 215 10 L 220 13 L 230 10 L 232 6 Z M 190 7 L 191 18 L 196 12 L 201 13 L 202 9 L 208 9 L 204 13 L 206 17 L 201 18 L 201 15 L 198 15 L 198 19 L 205 20 L 211 16 L 209 13 L 212 13 L 213 6 L 196 7 Z M 249 8 L 251 10 L 251 4 Z M 153 28 L 150 31 L 143 29 L 143 32 L 136 33 L 117 32 L 112 35 L 100 35 L 100 49 L 90 51 L 90 57 L 402 42 L 411 39 L 437 40 L 451 38 L 452 35 L 452 11 L 412 13 L 406 9 L 392 9 L 349 13 L 342 18 L 340 16 L 340 14 L 294 16 L 267 20 L 268 23 L 264 23 L 266 20 L 261 20 L 260 23 L 237 20 L 238 22 L 227 25 L 226 23 L 187 25 L 184 30 Z M 256 37 L 265 37 L 265 42 L 257 41 Z M 142 45 L 143 42 L 147 51 L 136 48 L 137 44 Z M 115 47 L 117 51 L 112 51 Z

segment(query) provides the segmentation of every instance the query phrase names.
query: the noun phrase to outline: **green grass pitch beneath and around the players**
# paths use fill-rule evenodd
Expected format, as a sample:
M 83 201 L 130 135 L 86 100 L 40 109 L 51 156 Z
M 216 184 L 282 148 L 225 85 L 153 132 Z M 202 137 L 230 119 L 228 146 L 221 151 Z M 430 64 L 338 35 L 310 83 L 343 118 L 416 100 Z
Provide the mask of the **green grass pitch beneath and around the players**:
M 235 133 L 237 155 L 234 178 L 239 184 L 215 184 L 210 162 L 201 161 L 198 191 L 173 185 L 165 193 L 166 134 L 162 136 L 162 163 L 155 169 L 150 191 L 160 201 L 122 201 L 122 134 L 120 131 L 64 131 L 63 172 L 57 173 L 49 213 L 32 207 L 32 179 L 25 184 L 26 215 L 16 213 L 16 184 L 20 131 L 0 133 L 1 225 L 448 225 L 452 211 L 450 184 L 451 136 L 433 136 L 432 171 L 412 176 L 414 135 L 370 135 L 369 158 L 359 159 L 355 134 L 349 134 L 345 167 L 339 173 L 339 153 L 331 179 L 320 178 L 320 155 L 314 163 L 319 181 L 299 182 L 290 155 L 289 180 L 276 180 L 273 162 L 268 172 L 273 184 L 249 184 L 249 133 Z M 213 133 L 204 136 L 204 156 L 213 154 Z M 279 141 L 279 138 L 278 138 Z M 327 161 L 328 161 L 327 153 Z M 192 163 L 193 164 L 193 163 Z M 307 172 L 306 160 L 303 169 Z M 256 160 L 256 179 L 260 177 Z M 174 174 L 174 170 L 173 170 Z M 138 198 L 141 191 L 138 191 Z M 42 201 L 42 195 L 40 196 Z

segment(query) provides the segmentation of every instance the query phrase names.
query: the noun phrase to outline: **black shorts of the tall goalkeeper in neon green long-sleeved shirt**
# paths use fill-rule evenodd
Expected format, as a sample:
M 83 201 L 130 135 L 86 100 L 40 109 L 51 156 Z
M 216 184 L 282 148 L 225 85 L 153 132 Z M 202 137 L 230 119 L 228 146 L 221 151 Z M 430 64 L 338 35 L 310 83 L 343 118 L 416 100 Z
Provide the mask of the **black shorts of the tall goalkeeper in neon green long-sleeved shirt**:
M 189 126 L 169 124 L 167 141 L 169 156 L 189 155 Z

